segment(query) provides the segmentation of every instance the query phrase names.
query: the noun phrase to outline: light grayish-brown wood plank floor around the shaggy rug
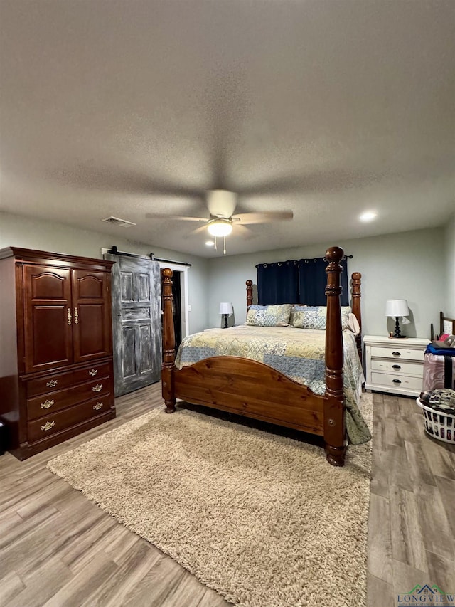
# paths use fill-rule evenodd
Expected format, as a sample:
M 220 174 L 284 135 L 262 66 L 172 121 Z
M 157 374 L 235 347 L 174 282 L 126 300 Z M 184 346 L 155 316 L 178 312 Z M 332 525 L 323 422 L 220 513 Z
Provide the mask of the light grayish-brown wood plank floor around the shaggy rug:
M 118 398 L 115 420 L 25 462 L 0 457 L 0 607 L 228 605 L 45 468 L 161 405 L 160 390 Z M 374 409 L 368 607 L 427 581 L 455 591 L 455 448 L 424 436 L 412 399 L 375 394 Z

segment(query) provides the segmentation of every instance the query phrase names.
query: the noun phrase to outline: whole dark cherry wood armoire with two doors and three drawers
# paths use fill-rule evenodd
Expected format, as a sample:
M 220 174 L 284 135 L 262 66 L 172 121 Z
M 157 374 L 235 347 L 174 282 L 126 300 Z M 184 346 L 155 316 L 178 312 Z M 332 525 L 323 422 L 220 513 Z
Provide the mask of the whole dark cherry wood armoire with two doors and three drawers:
M 21 460 L 115 417 L 111 267 L 0 250 L 0 421 Z

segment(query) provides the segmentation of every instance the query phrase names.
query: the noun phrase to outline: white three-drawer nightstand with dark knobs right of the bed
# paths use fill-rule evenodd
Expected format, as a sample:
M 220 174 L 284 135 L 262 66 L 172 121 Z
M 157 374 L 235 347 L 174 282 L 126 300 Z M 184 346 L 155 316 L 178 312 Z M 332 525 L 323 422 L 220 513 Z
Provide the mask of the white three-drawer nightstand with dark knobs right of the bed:
M 365 389 L 419 396 L 429 339 L 365 335 Z

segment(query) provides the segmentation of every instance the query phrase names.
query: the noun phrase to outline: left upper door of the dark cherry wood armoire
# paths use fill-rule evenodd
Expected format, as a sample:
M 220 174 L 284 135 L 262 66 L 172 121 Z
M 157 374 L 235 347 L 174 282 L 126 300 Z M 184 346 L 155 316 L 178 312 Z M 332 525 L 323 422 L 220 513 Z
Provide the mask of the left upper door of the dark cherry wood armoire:
M 23 273 L 26 372 L 71 364 L 71 270 L 25 265 Z

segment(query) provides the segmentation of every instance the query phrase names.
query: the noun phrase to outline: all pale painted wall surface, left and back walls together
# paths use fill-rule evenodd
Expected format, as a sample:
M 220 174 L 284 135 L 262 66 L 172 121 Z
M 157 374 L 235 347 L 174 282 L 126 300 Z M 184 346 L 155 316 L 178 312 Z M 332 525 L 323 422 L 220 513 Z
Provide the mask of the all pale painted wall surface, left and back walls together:
M 445 233 L 442 231 L 442 237 L 441 229 L 432 228 L 205 260 L 134 243 L 124 236 L 113 238 L 95 231 L 0 213 L 0 248 L 14 245 L 99 258 L 101 248 L 110 248 L 113 244 L 119 250 L 144 255 L 153 252 L 156 257 L 192 264 L 188 272 L 190 332 L 222 326 L 218 314 L 222 301 L 230 301 L 234 306 L 235 317 L 230 322 L 245 322 L 245 280 L 250 278 L 256 284 L 257 263 L 321 256 L 333 244 L 343 246 L 346 253 L 354 255 L 349 260 L 349 272 L 359 271 L 363 275 L 363 334 L 382 335 L 392 329 L 392 321 L 387 325 L 384 315 L 387 299 L 408 300 L 412 324 L 406 329 L 410 337 L 429 337 L 431 322 L 437 331 L 439 310 L 455 317 L 455 216 Z

